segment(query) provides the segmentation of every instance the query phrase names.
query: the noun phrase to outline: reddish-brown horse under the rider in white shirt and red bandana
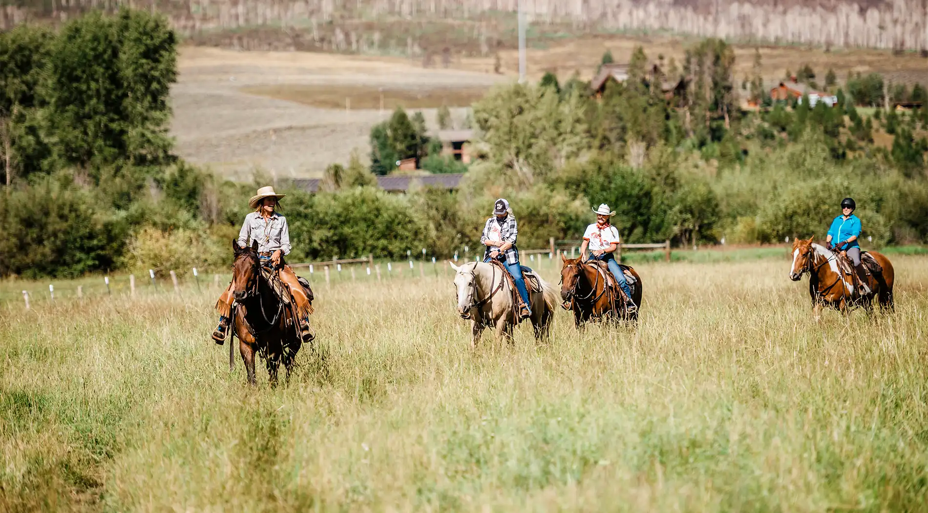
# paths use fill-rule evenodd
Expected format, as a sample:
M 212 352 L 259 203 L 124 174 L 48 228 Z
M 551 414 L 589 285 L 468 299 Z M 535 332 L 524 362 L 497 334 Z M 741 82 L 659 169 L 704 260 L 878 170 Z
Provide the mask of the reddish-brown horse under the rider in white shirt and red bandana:
M 635 322 L 638 311 L 629 314 L 625 311 L 625 300 L 621 293 L 608 287 L 606 276 L 608 270 L 599 270 L 598 266 L 584 263 L 579 258 L 568 259 L 561 255 L 561 299 L 564 309 L 574 312 L 574 325 L 581 327 L 590 319 L 623 320 Z M 632 289 L 632 301 L 641 305 L 641 276 L 635 269 L 628 267 L 628 272 L 635 276 L 629 280 Z

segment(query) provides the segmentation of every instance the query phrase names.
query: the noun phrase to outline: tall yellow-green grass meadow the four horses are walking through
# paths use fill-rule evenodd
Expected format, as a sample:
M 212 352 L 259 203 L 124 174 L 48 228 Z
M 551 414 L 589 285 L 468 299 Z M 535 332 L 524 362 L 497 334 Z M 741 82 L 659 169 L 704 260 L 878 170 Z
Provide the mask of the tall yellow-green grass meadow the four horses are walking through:
M 450 275 L 317 283 L 277 389 L 209 340 L 212 279 L 5 282 L 0 511 L 928 510 L 928 257 L 892 258 L 894 314 L 816 323 L 783 253 L 642 262 L 638 327 L 476 351 Z

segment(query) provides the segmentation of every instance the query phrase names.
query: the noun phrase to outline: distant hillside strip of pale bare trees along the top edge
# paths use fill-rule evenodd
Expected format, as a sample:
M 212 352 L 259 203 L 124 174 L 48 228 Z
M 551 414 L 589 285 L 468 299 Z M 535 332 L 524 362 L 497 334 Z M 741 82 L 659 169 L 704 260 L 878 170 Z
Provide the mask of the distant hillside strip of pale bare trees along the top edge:
M 130 4 L 97 0 L 50 2 L 27 0 L 0 8 L 0 27 L 29 19 L 67 19 L 85 9 Z M 518 0 L 142 0 L 132 6 L 152 6 L 165 12 L 174 27 L 188 37 L 211 32 L 261 27 L 282 28 L 294 41 L 307 37 L 319 43 L 320 25 L 338 29 L 332 44 L 365 45 L 363 37 L 342 28 L 352 20 L 487 19 L 514 12 Z M 866 46 L 924 50 L 928 48 L 928 2 L 925 0 L 863 0 L 786 2 L 731 0 L 525 0 L 535 25 L 566 22 L 575 32 L 676 32 L 767 43 Z M 495 23 L 475 31 L 493 37 Z M 354 35 L 353 35 L 354 34 Z M 374 37 L 373 35 L 371 37 Z M 359 41 L 359 38 L 362 39 Z M 410 41 L 409 45 L 415 42 Z M 486 45 L 483 45 L 485 51 Z M 264 48 L 269 49 L 269 48 Z M 291 48 L 292 49 L 292 48 Z M 412 53 L 412 52 L 410 52 Z

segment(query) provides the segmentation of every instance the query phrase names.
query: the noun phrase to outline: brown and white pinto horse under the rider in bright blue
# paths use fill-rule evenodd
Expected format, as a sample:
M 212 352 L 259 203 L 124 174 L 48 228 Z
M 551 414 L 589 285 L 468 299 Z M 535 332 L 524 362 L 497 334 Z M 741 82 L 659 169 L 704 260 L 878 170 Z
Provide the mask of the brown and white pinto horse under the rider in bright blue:
M 845 258 L 824 246 L 813 244 L 808 240 L 793 240 L 793 266 L 790 279 L 799 281 L 809 274 L 809 295 L 818 317 L 822 305 L 834 307 L 846 312 L 852 306 L 863 306 L 868 312 L 873 308 L 873 298 L 880 301 L 882 310 L 893 309 L 893 279 L 896 276 L 893 264 L 876 251 L 868 251 L 876 263 L 883 267 L 882 273 L 871 273 L 866 284 L 870 294 L 861 296 L 855 290 L 853 276 L 847 276 L 842 270 L 839 258 Z M 861 258 L 864 258 L 861 255 Z

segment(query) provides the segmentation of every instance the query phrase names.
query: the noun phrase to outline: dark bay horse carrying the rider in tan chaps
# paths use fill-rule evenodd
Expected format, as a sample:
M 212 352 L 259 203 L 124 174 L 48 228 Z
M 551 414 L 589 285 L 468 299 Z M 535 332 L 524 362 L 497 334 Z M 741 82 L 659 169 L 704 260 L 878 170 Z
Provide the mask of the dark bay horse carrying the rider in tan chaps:
M 257 241 L 251 248 L 239 248 L 233 239 L 232 248 L 235 250 L 232 335 L 238 337 L 238 351 L 248 370 L 248 382 L 255 383 L 254 355 L 258 353 L 264 358 L 271 385 L 277 385 L 277 368 L 281 361 L 290 378 L 293 360 L 303 345 L 296 309 L 280 299 L 262 273 Z

